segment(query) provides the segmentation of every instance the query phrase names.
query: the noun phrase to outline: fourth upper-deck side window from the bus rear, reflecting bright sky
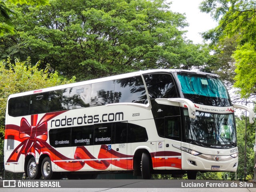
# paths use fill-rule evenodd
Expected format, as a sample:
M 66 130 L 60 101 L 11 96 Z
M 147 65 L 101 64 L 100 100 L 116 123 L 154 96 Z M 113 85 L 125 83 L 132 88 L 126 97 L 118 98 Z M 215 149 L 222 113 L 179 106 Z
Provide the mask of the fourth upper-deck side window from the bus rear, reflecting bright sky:
M 79 109 L 90 106 L 91 84 L 71 87 L 68 109 Z

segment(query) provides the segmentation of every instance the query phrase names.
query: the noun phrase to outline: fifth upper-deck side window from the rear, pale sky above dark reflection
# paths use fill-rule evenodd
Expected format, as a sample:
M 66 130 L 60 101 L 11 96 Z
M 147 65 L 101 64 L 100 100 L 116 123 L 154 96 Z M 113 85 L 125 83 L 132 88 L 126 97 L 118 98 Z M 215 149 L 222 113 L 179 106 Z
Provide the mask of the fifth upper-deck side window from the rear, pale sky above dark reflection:
M 103 81 L 92 84 L 90 106 L 99 106 L 113 103 L 115 81 Z

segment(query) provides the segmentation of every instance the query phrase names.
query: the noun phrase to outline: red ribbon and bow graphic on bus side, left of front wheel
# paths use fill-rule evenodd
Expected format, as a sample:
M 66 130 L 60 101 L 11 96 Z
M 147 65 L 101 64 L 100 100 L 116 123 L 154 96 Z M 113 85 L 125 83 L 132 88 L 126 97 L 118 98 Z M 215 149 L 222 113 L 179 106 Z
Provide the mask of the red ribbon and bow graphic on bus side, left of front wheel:
M 14 140 L 21 142 L 13 150 L 7 162 L 18 162 L 21 154 L 25 156 L 27 154 L 33 154 L 35 156 L 36 152 L 38 154 L 42 152 L 49 154 L 51 161 L 68 171 L 80 170 L 85 164 L 98 170 L 105 170 L 111 164 L 124 169 L 132 169 L 132 155 L 121 154 L 112 149 L 108 150 L 107 145 L 101 146 L 98 158 L 92 156 L 86 147 L 78 146 L 72 159 L 64 156 L 50 144 L 46 143 L 48 139 L 47 122 L 64 112 L 66 111 L 46 113 L 39 122 L 38 115 L 31 115 L 30 123 L 26 118 L 22 117 L 20 126 L 6 125 L 5 139 L 8 139 L 8 135 L 14 135 Z M 118 158 L 120 158 L 118 161 L 112 160 Z

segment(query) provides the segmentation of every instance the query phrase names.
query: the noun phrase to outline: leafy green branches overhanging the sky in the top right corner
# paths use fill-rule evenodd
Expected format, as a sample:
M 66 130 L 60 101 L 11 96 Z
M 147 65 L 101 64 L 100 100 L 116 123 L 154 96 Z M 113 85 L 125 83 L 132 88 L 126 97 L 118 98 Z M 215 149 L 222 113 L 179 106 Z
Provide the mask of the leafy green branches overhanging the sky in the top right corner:
M 200 10 L 219 22 L 215 29 L 204 33 L 204 38 L 216 43 L 237 35 L 242 45 L 250 42 L 256 46 L 255 6 L 254 0 L 204 0 Z

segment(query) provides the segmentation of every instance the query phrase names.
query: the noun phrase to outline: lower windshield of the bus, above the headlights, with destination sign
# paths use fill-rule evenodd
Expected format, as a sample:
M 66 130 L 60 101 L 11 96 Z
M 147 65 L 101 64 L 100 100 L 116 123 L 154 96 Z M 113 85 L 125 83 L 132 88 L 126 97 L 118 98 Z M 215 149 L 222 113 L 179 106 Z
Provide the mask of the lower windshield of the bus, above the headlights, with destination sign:
M 236 127 L 233 114 L 213 114 L 196 111 L 196 119 L 188 116 L 188 109 L 184 109 L 186 139 L 216 148 L 236 146 Z M 213 146 L 213 147 L 214 147 Z

